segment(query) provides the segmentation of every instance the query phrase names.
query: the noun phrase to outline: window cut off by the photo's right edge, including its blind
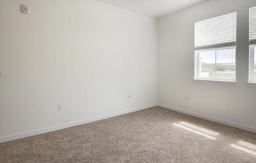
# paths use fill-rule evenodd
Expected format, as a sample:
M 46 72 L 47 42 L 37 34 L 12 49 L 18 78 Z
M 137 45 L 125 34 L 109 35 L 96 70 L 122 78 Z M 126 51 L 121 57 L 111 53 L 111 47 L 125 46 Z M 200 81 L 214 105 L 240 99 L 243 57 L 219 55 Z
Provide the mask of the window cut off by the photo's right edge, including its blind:
M 250 39 L 250 63 L 249 63 L 249 82 L 256 82 L 256 7 L 250 10 L 250 26 L 249 26 L 249 39 Z

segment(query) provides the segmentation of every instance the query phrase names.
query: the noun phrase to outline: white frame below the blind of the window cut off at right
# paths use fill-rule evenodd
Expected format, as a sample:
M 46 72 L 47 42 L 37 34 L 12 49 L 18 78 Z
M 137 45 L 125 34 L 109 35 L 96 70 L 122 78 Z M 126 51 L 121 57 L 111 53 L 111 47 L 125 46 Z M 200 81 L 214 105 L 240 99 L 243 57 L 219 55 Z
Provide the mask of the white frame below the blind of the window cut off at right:
M 254 47 L 256 44 L 249 45 L 249 82 L 256 83 L 256 78 L 254 79 Z

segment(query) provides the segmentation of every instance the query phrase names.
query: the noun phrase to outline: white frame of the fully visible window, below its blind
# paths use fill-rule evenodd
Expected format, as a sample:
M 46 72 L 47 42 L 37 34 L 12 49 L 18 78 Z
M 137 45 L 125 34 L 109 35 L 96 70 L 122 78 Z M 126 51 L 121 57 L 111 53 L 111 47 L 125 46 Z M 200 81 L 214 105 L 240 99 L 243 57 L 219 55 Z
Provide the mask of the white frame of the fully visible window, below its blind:
M 224 49 L 235 49 L 235 78 L 211 78 L 211 77 L 200 77 L 200 52 L 203 51 L 217 51 L 217 50 L 224 50 Z M 218 47 L 218 48 L 211 48 L 211 49 L 200 49 L 200 50 L 195 50 L 195 72 L 194 72 L 194 79 L 195 80 L 211 80 L 211 81 L 225 81 L 225 82 L 236 82 L 236 46 L 227 46 L 227 47 Z M 211 63 L 210 63 L 211 64 Z M 217 64 L 216 63 L 216 58 L 215 58 L 215 63 L 212 64 Z

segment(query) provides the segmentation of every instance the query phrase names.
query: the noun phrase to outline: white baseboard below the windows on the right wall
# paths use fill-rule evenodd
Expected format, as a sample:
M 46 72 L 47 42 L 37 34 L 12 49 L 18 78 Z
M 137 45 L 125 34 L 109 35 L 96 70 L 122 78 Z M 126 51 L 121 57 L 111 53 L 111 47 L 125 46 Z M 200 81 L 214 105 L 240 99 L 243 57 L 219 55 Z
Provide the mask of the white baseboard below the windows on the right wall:
M 174 110 L 174 111 L 177 111 L 177 112 L 181 112 L 181 113 L 184 113 L 184 114 L 188 114 L 190 116 L 195 116 L 195 117 L 202 118 L 202 119 L 205 119 L 205 120 L 214 121 L 214 122 L 217 122 L 217 123 L 221 123 L 223 125 L 228 125 L 228 126 L 236 127 L 238 129 L 247 130 L 247 131 L 256 133 L 256 128 L 254 128 L 254 127 L 240 125 L 238 123 L 234 123 L 234 122 L 230 122 L 230 121 L 220 120 L 218 118 L 213 118 L 213 117 L 205 116 L 205 115 L 202 115 L 202 114 L 197 114 L 197 113 L 190 112 L 190 111 L 187 111 L 187 110 L 179 109 L 177 107 L 167 106 L 167 105 L 164 105 L 164 104 L 161 104 L 161 103 L 159 103 L 158 106 L 166 108 L 166 109 Z

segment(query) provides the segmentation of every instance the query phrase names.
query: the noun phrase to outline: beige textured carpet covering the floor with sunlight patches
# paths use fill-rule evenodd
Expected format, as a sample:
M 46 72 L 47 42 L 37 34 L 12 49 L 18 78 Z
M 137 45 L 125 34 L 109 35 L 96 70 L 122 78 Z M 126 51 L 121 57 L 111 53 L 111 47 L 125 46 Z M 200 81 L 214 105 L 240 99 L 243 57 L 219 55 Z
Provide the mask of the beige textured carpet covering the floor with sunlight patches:
M 154 107 L 1 143 L 0 163 L 256 163 L 256 134 Z

